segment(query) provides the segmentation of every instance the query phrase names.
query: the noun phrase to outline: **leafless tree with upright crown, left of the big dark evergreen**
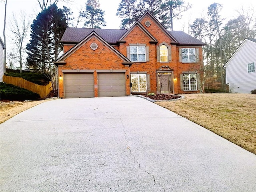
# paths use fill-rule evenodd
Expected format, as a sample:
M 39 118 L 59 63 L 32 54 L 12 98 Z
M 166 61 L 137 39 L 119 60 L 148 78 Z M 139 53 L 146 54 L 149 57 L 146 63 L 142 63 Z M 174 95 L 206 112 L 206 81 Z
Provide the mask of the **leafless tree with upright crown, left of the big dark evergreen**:
M 12 17 L 10 31 L 13 34 L 12 42 L 19 52 L 20 73 L 22 73 L 22 53 L 25 49 L 24 41 L 28 36 L 31 20 L 27 20 L 28 17 L 25 11 L 20 12 L 18 19 L 14 14 L 12 14 Z

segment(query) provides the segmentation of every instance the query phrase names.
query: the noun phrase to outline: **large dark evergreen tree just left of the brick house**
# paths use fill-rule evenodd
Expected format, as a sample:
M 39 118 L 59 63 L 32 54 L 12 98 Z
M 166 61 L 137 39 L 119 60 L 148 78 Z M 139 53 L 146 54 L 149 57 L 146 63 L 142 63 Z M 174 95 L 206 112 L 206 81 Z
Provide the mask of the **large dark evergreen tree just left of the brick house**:
M 28 68 L 43 72 L 54 84 L 54 65 L 60 54 L 60 39 L 67 27 L 66 17 L 56 4 L 38 14 L 31 25 L 27 49 Z

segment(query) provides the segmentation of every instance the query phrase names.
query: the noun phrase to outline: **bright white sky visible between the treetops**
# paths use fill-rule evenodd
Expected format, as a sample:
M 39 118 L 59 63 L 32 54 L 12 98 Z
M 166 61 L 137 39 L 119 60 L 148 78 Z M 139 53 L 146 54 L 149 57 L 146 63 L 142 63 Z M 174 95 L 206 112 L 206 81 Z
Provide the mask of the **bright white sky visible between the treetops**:
M 67 4 L 58 2 L 57 6 L 62 8 L 63 6 L 71 8 L 73 16 L 76 18 L 79 13 L 81 6 L 85 8 L 85 3 L 87 0 L 71 0 L 72 3 Z M 106 21 L 106 29 L 119 29 L 121 19 L 116 16 L 116 11 L 121 0 L 99 0 L 100 8 L 105 11 L 104 19 Z M 237 10 L 244 8 L 247 10 L 249 7 L 254 7 L 254 12 L 256 12 L 256 0 L 184 0 L 186 3 L 192 4 L 192 8 L 184 13 L 182 13 L 182 18 L 180 20 L 174 20 L 174 30 L 182 30 L 188 33 L 188 26 L 194 22 L 196 18 L 207 15 L 208 6 L 216 2 L 223 5 L 220 15 L 228 22 L 228 20 L 236 18 Z M 235 3 L 234 3 L 235 2 Z M 10 35 L 10 19 L 12 14 L 16 16 L 19 15 L 21 11 L 25 11 L 26 15 L 35 19 L 37 14 L 40 12 L 40 7 L 37 0 L 7 0 L 7 13 L 6 13 L 6 45 L 9 42 L 8 36 Z M 256 17 L 256 14 L 254 15 Z M 225 24 L 225 23 L 224 23 Z M 3 26 L 4 26 L 4 2 L 0 0 L 0 37 L 3 39 Z M 82 24 L 80 25 L 82 27 Z

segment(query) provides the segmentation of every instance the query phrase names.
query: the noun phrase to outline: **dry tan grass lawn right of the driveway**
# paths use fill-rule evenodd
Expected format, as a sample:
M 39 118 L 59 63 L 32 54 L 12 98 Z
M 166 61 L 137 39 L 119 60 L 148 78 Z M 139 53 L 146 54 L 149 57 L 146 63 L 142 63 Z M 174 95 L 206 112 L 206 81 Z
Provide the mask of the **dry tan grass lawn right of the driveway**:
M 184 96 L 183 100 L 156 104 L 256 154 L 256 95 L 216 93 Z

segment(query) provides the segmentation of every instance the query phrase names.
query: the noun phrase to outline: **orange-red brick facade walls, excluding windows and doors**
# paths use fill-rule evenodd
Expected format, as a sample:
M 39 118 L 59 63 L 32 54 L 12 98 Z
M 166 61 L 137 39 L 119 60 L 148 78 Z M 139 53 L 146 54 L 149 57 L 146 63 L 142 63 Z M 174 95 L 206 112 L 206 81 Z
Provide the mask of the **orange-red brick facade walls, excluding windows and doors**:
M 150 26 L 146 26 L 150 22 Z M 202 45 L 180 44 L 172 35 L 159 25 L 159 22 L 149 13 L 146 12 L 139 20 L 128 30 L 122 39 L 115 44 L 108 44 L 96 32 L 92 32 L 90 37 L 85 38 L 79 43 L 63 43 L 64 55 L 58 59 L 58 76 L 64 77 L 64 72 L 92 72 L 94 74 L 94 96 L 98 97 L 98 79 L 97 70 L 106 70 L 106 72 L 122 71 L 126 78 L 126 95 L 146 94 L 146 92 L 131 93 L 131 74 L 140 74 L 146 72 L 150 75 L 150 91 L 155 94 L 161 93 L 161 76 L 159 74 L 169 74 L 170 93 L 198 93 L 199 90 L 184 91 L 180 86 L 180 74 L 196 73 L 201 74 L 200 63 L 202 63 Z M 157 40 L 157 41 L 156 41 Z M 98 48 L 92 50 L 90 45 L 96 43 Z M 157 46 L 166 44 L 171 48 L 171 61 L 157 61 Z M 146 46 L 149 50 L 148 61 L 130 62 L 127 55 L 127 47 L 135 44 Z M 179 48 L 198 48 L 199 61 L 195 63 L 182 63 L 179 61 Z M 164 66 L 164 67 L 162 67 Z M 77 71 L 76 71 L 77 70 Z M 87 71 L 86 71 L 87 70 Z M 109 70 L 109 71 L 108 71 Z M 65 97 L 63 79 L 59 80 L 59 96 Z

